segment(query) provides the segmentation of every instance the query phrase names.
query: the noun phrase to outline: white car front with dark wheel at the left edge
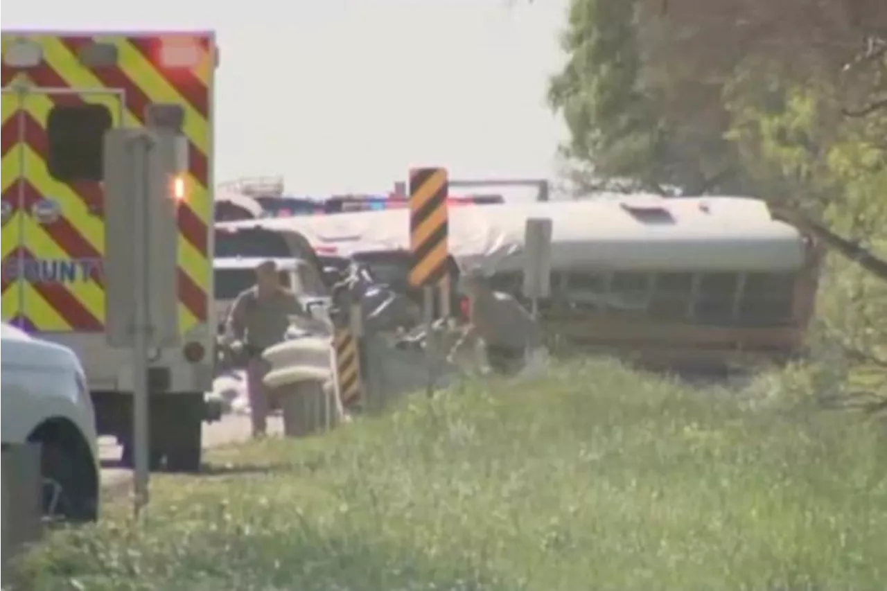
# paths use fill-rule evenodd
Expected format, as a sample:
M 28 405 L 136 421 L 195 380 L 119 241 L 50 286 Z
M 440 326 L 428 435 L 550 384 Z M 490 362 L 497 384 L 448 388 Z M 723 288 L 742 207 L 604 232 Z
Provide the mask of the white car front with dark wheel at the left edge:
M 0 322 L 0 449 L 41 444 L 44 516 L 98 518 L 98 436 L 73 351 Z

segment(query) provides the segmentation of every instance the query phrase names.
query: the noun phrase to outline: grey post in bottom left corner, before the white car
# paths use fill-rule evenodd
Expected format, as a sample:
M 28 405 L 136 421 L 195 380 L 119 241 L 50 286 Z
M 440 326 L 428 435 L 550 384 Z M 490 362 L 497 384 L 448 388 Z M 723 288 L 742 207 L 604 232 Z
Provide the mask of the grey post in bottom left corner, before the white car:
M 40 444 L 0 448 L 0 585 L 9 561 L 43 535 Z

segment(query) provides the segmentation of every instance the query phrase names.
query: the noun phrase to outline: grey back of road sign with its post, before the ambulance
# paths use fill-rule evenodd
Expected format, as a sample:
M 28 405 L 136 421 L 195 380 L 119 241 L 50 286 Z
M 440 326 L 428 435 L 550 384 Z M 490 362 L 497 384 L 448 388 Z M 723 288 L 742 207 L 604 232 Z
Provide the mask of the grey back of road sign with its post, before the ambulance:
M 136 514 L 148 502 L 149 351 L 180 340 L 182 142 L 167 130 L 111 130 L 105 137 L 106 338 L 111 346 L 132 351 Z

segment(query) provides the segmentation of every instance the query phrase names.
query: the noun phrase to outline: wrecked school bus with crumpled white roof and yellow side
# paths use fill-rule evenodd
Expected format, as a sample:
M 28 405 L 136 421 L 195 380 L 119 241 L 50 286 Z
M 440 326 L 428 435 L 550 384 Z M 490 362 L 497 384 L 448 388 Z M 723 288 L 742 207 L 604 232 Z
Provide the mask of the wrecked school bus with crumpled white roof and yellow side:
M 408 216 L 262 225 L 299 232 L 318 254 L 358 258 L 405 285 Z M 773 220 L 763 201 L 636 195 L 451 209 L 451 255 L 519 296 L 530 217 L 553 220 L 552 296 L 540 310 L 559 346 L 699 369 L 779 362 L 803 350 L 820 249 Z

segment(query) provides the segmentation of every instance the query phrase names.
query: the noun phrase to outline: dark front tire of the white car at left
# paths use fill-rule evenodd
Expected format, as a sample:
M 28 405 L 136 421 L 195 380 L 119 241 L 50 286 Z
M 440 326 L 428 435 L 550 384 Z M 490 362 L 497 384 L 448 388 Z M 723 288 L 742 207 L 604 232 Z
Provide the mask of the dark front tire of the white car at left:
M 43 516 L 68 523 L 98 519 L 98 495 L 90 483 L 95 467 L 76 449 L 41 442 L 40 474 L 43 477 Z

